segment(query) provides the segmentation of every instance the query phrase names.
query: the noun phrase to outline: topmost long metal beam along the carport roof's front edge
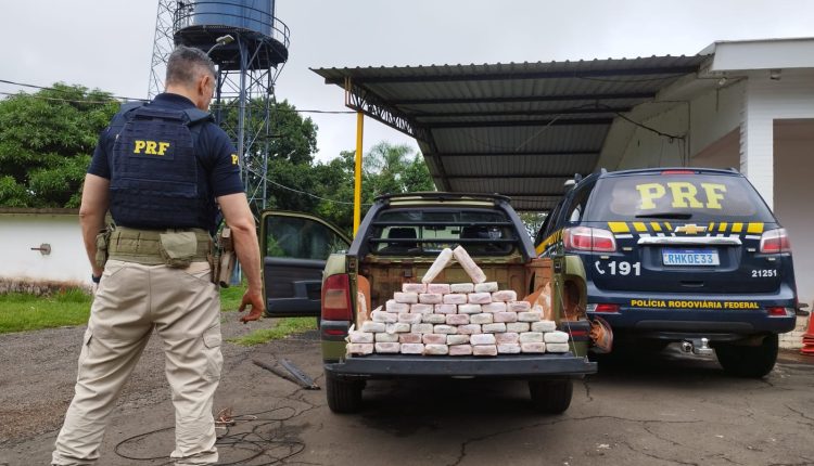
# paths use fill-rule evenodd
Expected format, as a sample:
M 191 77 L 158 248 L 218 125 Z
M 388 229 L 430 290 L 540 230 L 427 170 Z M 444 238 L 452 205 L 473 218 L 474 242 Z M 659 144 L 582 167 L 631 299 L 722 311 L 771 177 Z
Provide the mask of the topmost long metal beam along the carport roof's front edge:
M 460 82 L 460 81 L 497 81 L 517 79 L 556 79 L 556 78 L 609 78 L 627 76 L 653 76 L 665 75 L 664 79 L 676 78 L 682 75 L 698 72 L 698 65 L 685 66 L 654 66 L 645 68 L 618 68 L 618 69 L 585 69 L 585 70 L 557 70 L 557 72 L 503 72 L 503 73 L 465 73 L 445 74 L 433 76 L 352 76 L 356 83 L 385 83 L 385 82 Z M 342 85 L 342 79 L 326 79 L 327 83 Z

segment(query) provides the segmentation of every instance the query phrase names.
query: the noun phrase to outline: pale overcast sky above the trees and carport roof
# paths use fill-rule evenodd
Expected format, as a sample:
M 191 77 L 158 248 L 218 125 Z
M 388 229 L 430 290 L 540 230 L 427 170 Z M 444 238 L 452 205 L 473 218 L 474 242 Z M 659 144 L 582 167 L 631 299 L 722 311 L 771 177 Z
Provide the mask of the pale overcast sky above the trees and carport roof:
M 145 98 L 157 1 L 0 0 L 0 79 Z M 291 29 L 278 99 L 346 109 L 309 67 L 694 55 L 718 40 L 814 36 L 810 0 L 277 0 Z M 0 91 L 21 88 L 0 83 Z M 310 115 L 318 158 L 355 146 L 353 115 Z M 366 118 L 365 151 L 417 144 Z

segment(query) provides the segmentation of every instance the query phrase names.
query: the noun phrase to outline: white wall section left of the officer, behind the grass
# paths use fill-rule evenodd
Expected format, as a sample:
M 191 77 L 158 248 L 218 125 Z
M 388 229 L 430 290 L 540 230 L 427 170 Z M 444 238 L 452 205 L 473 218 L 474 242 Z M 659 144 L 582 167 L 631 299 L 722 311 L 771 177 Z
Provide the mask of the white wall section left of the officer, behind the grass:
M 0 279 L 89 283 L 91 269 L 77 215 L 0 215 Z M 50 244 L 43 256 L 33 247 Z

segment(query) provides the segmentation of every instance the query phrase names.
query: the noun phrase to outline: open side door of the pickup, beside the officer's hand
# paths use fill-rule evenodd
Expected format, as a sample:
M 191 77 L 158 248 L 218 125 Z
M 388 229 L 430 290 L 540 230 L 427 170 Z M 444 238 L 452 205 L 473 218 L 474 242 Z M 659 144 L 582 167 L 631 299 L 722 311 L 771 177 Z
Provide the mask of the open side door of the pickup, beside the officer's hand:
M 260 253 L 266 314 L 318 316 L 322 270 L 333 253 L 347 250 L 351 240 L 319 217 L 267 210 L 260 219 Z

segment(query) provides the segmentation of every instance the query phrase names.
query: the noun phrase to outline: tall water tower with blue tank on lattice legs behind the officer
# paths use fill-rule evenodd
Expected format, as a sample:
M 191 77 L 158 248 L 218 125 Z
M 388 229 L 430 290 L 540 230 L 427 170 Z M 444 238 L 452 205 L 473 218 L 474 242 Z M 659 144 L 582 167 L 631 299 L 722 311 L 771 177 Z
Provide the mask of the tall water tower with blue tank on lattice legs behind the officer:
M 209 52 L 217 65 L 211 111 L 238 148 L 251 205 L 266 207 L 275 81 L 289 57 L 289 28 L 275 16 L 275 0 L 158 0 L 151 99 L 164 90 L 175 44 Z

